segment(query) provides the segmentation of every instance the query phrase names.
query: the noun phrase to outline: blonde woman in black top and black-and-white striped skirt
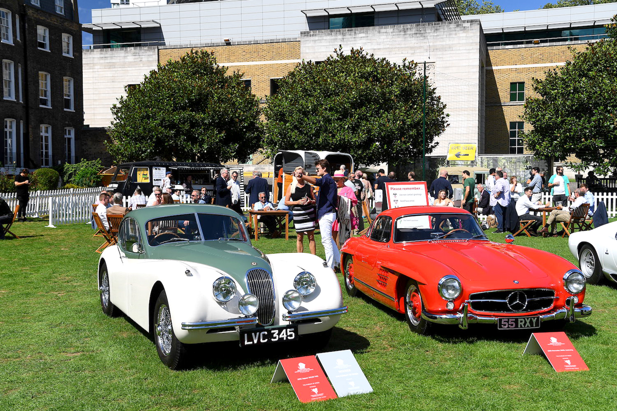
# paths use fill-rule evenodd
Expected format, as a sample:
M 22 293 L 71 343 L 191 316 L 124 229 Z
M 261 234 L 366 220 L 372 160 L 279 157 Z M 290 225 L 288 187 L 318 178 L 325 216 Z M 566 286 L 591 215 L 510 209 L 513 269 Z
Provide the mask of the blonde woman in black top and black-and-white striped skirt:
M 285 193 L 285 205 L 290 206 L 294 212 L 294 228 L 296 229 L 296 250 L 304 252 L 304 234 L 309 237 L 309 249 L 311 254 L 317 253 L 315 246 L 315 195 L 313 188 L 302 177 L 295 177 L 296 173 L 304 173 L 302 167 L 294 170 L 292 180 Z

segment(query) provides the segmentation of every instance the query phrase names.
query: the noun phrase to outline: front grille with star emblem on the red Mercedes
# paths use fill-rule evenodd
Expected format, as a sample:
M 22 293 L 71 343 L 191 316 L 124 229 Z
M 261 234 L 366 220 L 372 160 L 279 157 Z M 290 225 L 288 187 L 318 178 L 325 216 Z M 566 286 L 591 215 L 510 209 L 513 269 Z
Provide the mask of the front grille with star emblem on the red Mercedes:
M 469 296 L 469 303 L 470 309 L 476 312 L 520 312 L 523 314 L 550 309 L 557 298 L 553 290 L 532 288 L 473 293 Z

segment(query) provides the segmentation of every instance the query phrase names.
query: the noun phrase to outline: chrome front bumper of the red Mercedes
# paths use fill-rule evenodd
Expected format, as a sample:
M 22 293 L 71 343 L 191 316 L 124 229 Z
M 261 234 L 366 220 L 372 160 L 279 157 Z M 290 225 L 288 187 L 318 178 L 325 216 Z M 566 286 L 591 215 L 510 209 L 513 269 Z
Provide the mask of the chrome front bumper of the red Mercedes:
M 591 315 L 592 308 L 590 306 L 583 305 L 581 307 L 574 307 L 574 300 L 570 298 L 568 298 L 567 303 L 568 306 L 566 307 L 537 315 L 540 317 L 540 323 L 551 320 L 568 320 L 569 322 L 574 322 L 578 318 L 589 317 L 589 315 Z M 521 317 L 524 316 L 524 314 L 521 314 Z M 470 314 L 469 305 L 465 303 L 463 304 L 462 312 L 457 312 L 456 314 L 431 314 L 430 312 L 423 311 L 422 318 L 437 324 L 458 324 L 458 327 L 466 330 L 469 324 L 497 324 L 499 319 L 505 317 Z

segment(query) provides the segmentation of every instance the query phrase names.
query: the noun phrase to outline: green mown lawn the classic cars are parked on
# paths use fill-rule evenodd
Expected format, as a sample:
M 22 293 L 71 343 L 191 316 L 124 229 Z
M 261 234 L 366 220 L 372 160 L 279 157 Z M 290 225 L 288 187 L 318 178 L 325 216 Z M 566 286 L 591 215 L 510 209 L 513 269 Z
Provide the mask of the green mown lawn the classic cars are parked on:
M 300 404 L 288 383 L 270 384 L 276 361 L 315 354 L 298 346 L 199 347 L 196 368 L 172 372 L 126 317 L 101 312 L 94 253 L 85 224 L 16 223 L 21 240 L 0 242 L 0 410 L 583 410 L 617 404 L 617 287 L 589 286 L 594 314 L 565 331 L 588 372 L 556 373 L 541 356 L 522 356 L 528 333 L 494 327 L 409 331 L 402 315 L 368 298 L 349 298 L 349 314 L 323 351 L 352 349 L 374 393 Z M 503 234 L 492 235 L 503 242 Z M 318 240 L 319 242 L 319 240 Z M 563 238 L 522 238 L 574 261 Z M 295 241 L 260 238 L 266 253 Z M 318 253 L 323 248 L 318 243 Z M 499 275 L 499 267 L 495 267 Z M 610 405 L 613 404 L 613 405 Z

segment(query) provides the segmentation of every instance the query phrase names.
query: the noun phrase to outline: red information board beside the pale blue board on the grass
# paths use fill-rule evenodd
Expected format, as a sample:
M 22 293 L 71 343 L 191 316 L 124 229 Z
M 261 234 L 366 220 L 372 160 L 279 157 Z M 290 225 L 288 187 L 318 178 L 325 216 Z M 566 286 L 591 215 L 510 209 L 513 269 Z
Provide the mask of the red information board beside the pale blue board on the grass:
M 270 382 L 283 380 L 289 380 L 300 402 L 336 398 L 336 393 L 315 356 L 280 360 Z

